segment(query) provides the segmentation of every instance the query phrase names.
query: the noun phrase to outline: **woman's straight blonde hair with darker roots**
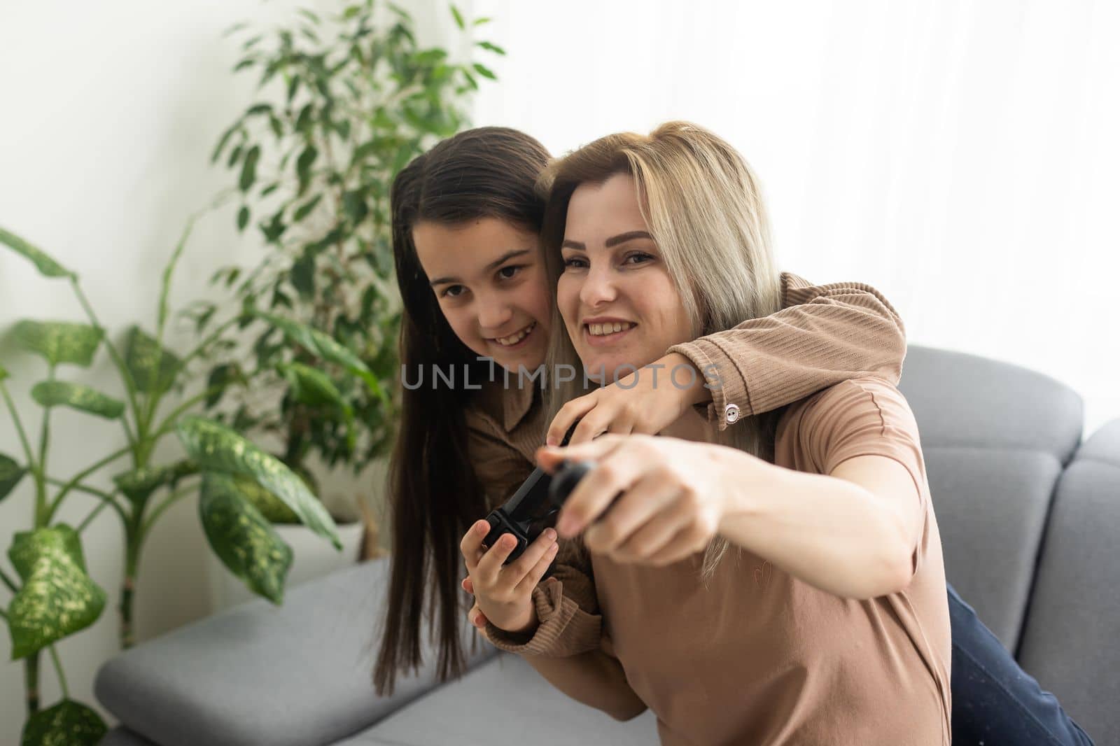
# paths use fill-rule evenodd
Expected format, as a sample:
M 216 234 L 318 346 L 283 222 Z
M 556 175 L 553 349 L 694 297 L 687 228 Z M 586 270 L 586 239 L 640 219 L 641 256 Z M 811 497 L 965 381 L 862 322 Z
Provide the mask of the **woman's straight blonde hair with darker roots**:
M 628 174 L 636 183 L 642 216 L 676 285 L 693 337 L 781 308 L 781 280 L 758 179 L 735 148 L 688 122 L 666 122 L 648 136 L 608 134 L 553 161 L 544 171 L 539 181 L 548 195 L 541 235 L 553 289 L 563 272 L 560 245 L 572 193 L 581 184 L 603 184 L 618 174 Z M 552 329 L 547 370 L 563 370 L 563 365 L 582 371 L 557 304 Z M 560 383 L 557 376 L 548 388 L 550 420 L 564 402 L 585 393 L 585 385 L 584 375 L 571 383 Z M 744 418 L 716 440 L 772 460 L 775 423 L 773 413 Z M 711 577 L 728 547 L 721 537 L 709 544 L 703 580 Z

